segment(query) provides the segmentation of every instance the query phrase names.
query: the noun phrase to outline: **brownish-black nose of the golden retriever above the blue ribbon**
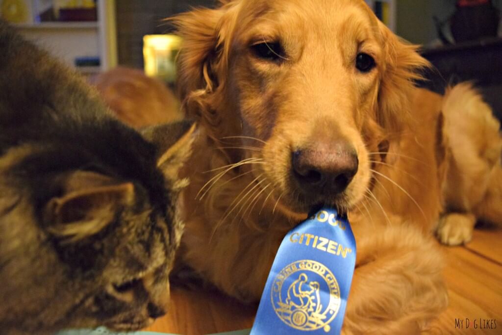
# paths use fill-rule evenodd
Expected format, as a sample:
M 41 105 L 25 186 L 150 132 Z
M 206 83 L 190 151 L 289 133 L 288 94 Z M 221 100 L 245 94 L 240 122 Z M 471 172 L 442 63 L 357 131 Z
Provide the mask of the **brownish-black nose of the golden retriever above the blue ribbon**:
M 293 175 L 305 193 L 330 196 L 347 188 L 357 173 L 359 160 L 352 145 L 339 141 L 293 152 L 292 165 Z

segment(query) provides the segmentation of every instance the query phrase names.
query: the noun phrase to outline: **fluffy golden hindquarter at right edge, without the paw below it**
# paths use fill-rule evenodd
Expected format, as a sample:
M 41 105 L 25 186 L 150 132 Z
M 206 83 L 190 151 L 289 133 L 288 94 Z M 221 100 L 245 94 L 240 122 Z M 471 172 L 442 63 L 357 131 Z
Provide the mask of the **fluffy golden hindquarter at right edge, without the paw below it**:
M 502 225 L 502 137 L 491 107 L 470 83 L 446 91 L 442 106 L 458 209 Z M 453 174 L 453 176 L 452 176 Z M 455 176 L 456 174 L 456 176 Z M 448 190 L 447 190 L 448 192 Z M 448 197 L 447 197 L 448 201 Z

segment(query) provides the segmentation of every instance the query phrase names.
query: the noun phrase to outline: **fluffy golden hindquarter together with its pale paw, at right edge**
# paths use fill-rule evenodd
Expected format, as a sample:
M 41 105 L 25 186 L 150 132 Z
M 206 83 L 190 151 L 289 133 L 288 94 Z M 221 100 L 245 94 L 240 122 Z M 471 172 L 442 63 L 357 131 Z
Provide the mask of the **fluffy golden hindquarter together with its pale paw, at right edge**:
M 437 228 L 447 245 L 467 243 L 477 220 L 502 226 L 500 123 L 470 84 L 449 90 L 443 102 L 448 138 L 444 184 L 447 212 Z

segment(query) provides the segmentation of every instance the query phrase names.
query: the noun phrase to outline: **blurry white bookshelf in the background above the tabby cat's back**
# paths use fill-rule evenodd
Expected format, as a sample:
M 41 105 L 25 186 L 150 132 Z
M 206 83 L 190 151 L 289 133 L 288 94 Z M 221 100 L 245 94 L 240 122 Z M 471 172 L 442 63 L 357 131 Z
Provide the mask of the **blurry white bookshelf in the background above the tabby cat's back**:
M 0 0 L 0 17 L 84 74 L 117 63 L 114 0 Z

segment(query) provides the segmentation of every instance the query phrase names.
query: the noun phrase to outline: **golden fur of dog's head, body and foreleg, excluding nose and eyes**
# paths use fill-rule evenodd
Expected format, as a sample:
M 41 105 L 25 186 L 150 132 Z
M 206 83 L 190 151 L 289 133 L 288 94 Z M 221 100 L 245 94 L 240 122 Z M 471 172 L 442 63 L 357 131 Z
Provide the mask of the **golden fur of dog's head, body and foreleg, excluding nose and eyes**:
M 200 124 L 186 173 L 180 260 L 242 300 L 261 296 L 288 230 L 318 202 L 348 211 L 357 264 L 344 333 L 411 334 L 447 303 L 430 234 L 448 162 L 443 97 L 414 87 L 428 66 L 362 0 L 233 0 L 174 19 L 179 85 Z M 252 46 L 280 41 L 285 59 Z M 358 52 L 376 67 L 355 68 Z M 340 194 L 309 199 L 291 154 L 347 139 L 359 167 Z

